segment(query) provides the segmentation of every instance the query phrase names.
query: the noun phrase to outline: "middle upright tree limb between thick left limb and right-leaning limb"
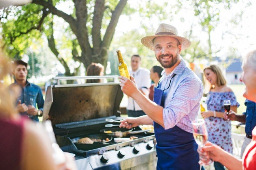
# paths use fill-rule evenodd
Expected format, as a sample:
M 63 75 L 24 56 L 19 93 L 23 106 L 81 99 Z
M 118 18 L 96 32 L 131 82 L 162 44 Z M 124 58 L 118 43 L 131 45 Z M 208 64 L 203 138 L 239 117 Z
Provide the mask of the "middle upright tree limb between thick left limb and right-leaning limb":
M 101 44 L 101 24 L 102 18 L 105 10 L 105 0 L 96 0 L 94 6 L 94 13 L 93 13 L 93 29 L 91 30 L 91 35 L 93 37 L 93 49 L 94 53 L 100 49 Z

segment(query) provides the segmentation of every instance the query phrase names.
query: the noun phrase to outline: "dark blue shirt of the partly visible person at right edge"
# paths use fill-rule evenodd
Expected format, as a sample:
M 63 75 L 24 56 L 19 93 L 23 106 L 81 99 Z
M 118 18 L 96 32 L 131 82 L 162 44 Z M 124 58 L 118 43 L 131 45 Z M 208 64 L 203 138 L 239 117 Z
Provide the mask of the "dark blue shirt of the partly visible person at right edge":
M 252 136 L 253 128 L 256 126 L 256 103 L 245 100 L 246 111 L 243 113 L 245 118 L 245 133 Z

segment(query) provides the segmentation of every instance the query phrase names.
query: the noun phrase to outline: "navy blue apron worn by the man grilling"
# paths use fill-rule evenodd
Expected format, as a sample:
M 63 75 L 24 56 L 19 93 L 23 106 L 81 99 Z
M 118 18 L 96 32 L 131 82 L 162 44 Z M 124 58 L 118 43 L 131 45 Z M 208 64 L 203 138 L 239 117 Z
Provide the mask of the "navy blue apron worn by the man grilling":
M 154 90 L 154 102 L 165 108 L 163 92 L 166 89 L 159 89 L 158 83 Z M 193 134 L 180 129 L 178 126 L 165 130 L 156 122 L 154 122 L 154 131 L 157 142 L 157 170 L 200 169 L 198 164 L 199 154 L 197 153 L 198 145 L 194 140 Z

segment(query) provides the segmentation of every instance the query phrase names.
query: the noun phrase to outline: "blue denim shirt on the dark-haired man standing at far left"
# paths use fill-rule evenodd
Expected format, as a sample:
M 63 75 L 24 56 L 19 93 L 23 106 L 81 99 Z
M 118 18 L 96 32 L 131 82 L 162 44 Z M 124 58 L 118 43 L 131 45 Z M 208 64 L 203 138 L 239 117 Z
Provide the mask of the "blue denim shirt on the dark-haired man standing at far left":
M 15 80 L 13 84 L 18 84 Z M 44 106 L 44 99 L 42 90 L 39 86 L 29 83 L 28 80 L 26 81 L 25 87 L 21 87 L 22 91 L 20 92 L 20 96 L 17 99 L 17 103 L 20 100 L 21 103 L 25 103 L 28 105 L 33 105 L 35 108 L 40 109 L 43 112 L 43 106 Z M 30 100 L 30 98 L 33 99 L 33 101 Z M 20 113 L 21 115 L 26 115 L 26 113 Z M 31 116 L 30 117 L 34 121 L 39 121 L 38 116 Z

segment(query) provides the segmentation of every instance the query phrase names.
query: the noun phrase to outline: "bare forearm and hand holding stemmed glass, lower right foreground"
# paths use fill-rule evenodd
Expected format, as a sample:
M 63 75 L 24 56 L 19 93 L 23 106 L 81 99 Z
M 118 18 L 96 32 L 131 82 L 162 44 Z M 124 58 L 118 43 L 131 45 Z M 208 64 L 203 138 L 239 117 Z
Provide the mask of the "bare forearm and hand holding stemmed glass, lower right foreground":
M 219 162 L 230 170 L 243 169 L 242 160 L 237 159 L 232 154 L 224 151 L 221 147 L 207 142 L 204 147 L 198 148 L 198 153 L 201 157 L 200 162 L 207 162 L 208 159 L 212 159 L 215 162 Z

